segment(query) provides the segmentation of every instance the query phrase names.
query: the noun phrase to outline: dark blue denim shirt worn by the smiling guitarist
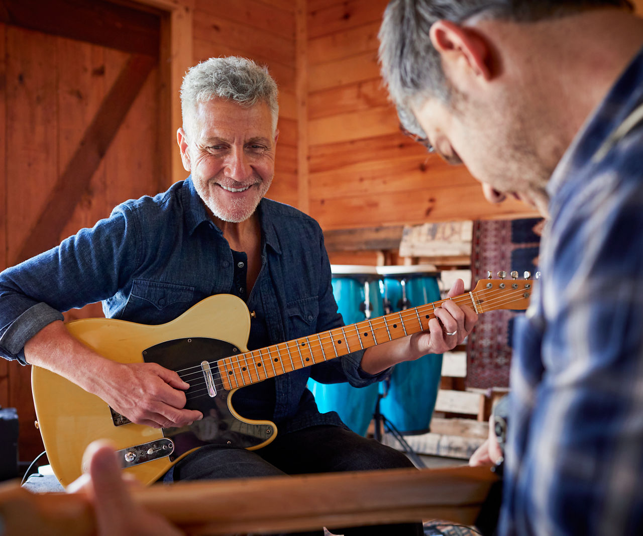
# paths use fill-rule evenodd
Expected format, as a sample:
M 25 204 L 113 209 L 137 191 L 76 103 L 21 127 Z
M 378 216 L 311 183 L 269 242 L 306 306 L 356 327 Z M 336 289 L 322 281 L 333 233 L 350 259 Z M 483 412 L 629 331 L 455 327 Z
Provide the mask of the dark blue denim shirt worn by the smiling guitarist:
M 264 338 L 275 344 L 343 325 L 319 224 L 269 199 L 257 210 L 262 266 L 248 303 L 264 323 Z M 229 293 L 233 277 L 230 246 L 188 177 L 155 197 L 120 204 L 93 228 L 1 272 L 0 355 L 25 363 L 26 341 L 62 319 L 60 311 L 102 301 L 106 317 L 158 325 L 208 296 Z M 334 412 L 320 415 L 306 382 L 312 377 L 361 387 L 379 380 L 385 373 L 361 370 L 362 355 L 353 352 L 280 375 L 274 389 L 240 389 L 235 409 L 256 407 L 257 396 L 264 396 L 273 411 L 266 417 L 282 432 L 341 425 Z M 244 400 L 246 389 L 255 400 Z

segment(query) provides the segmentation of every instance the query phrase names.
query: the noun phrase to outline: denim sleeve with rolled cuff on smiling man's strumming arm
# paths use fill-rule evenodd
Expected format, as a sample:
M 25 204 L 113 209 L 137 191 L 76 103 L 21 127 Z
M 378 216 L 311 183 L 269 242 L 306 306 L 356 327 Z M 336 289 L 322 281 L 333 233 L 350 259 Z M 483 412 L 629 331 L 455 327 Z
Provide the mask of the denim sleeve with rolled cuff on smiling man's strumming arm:
M 62 312 L 114 295 L 136 258 L 136 230 L 125 211 L 81 229 L 0 272 L 0 355 L 26 363 L 24 344 Z

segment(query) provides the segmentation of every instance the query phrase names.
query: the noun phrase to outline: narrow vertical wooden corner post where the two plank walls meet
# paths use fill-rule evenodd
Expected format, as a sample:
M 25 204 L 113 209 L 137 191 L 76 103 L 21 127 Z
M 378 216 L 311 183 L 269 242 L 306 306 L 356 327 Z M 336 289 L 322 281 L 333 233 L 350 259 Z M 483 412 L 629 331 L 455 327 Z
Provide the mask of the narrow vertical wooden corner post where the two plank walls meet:
M 308 172 L 308 31 L 306 0 L 296 0 L 295 11 L 295 97 L 297 100 L 297 204 L 310 210 Z

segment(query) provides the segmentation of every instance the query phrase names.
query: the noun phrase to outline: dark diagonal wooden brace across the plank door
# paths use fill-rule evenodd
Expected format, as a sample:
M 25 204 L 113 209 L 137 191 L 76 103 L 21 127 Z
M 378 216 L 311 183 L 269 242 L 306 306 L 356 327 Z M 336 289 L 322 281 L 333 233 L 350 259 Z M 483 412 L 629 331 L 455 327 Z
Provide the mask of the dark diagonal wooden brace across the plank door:
M 86 192 L 91 176 L 155 64 L 156 60 L 149 56 L 129 58 L 51 190 L 44 211 L 24 240 L 15 264 L 59 242 L 69 215 Z

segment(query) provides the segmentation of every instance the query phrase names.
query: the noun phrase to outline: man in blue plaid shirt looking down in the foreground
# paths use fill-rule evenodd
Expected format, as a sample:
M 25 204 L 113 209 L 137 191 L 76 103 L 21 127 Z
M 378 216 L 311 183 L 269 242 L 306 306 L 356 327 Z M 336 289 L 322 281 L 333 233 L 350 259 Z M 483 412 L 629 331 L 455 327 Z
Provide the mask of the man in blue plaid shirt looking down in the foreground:
M 395 0 L 379 36 L 406 129 L 548 218 L 500 534 L 642 534 L 643 20 L 626 0 Z

